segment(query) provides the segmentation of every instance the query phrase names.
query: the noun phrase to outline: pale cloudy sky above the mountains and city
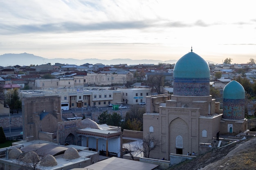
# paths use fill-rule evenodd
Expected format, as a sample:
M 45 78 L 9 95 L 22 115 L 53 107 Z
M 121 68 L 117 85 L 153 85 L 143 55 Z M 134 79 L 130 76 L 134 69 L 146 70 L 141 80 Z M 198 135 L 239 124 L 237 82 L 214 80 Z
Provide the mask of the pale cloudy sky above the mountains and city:
M 254 0 L 0 0 L 0 55 L 256 60 Z

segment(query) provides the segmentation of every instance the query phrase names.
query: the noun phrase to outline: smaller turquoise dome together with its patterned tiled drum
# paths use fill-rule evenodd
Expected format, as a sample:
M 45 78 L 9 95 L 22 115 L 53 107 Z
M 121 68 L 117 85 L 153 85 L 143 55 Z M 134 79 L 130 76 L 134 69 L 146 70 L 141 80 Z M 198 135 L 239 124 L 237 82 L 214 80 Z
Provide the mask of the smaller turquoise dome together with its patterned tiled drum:
M 223 119 L 245 119 L 245 89 L 233 80 L 223 88 Z

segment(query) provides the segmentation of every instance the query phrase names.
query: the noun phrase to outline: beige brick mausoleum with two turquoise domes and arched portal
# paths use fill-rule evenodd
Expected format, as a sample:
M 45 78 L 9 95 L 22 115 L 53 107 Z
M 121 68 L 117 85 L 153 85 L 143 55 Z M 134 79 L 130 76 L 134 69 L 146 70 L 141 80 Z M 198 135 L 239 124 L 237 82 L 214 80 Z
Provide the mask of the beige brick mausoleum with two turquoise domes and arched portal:
M 168 158 L 171 153 L 186 155 L 204 152 L 201 144 L 213 143 L 216 133 L 238 134 L 247 130 L 245 90 L 232 81 L 223 90 L 223 110 L 210 95 L 210 69 L 194 53 L 177 61 L 173 70 L 173 95 L 146 97 L 143 115 L 144 137 L 150 135 L 160 144 L 151 158 Z

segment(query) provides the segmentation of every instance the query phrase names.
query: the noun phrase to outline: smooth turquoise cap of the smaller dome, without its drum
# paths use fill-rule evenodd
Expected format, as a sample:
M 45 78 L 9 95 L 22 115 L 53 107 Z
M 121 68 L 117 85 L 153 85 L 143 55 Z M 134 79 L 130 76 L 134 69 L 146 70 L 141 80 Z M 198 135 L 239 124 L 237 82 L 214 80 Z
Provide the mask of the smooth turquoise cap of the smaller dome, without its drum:
M 233 80 L 223 88 L 223 99 L 245 99 L 244 87 Z

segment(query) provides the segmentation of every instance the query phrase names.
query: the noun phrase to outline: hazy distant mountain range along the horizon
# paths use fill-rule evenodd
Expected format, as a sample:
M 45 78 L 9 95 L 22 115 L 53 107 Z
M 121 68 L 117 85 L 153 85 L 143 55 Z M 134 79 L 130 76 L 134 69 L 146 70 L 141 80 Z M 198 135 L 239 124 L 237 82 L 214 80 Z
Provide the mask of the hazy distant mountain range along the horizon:
M 54 58 L 54 59 L 47 59 L 44 57 L 39 57 L 33 54 L 28 53 L 21 53 L 21 54 L 3 54 L 0 55 L 0 66 L 29 66 L 30 64 L 41 65 L 46 63 L 51 63 L 54 65 L 55 63 L 61 64 L 76 64 L 82 65 L 85 63 L 90 64 L 97 64 L 101 63 L 104 65 L 114 65 L 114 64 L 127 64 L 127 65 L 137 65 L 137 64 L 158 64 L 158 63 L 169 63 L 173 64 L 176 63 L 177 60 L 168 60 L 168 61 L 161 61 L 161 60 L 131 60 L 131 59 L 112 59 L 112 60 L 100 60 L 96 58 L 90 59 L 83 59 L 77 60 L 73 58 Z M 214 63 L 214 62 L 210 62 Z

